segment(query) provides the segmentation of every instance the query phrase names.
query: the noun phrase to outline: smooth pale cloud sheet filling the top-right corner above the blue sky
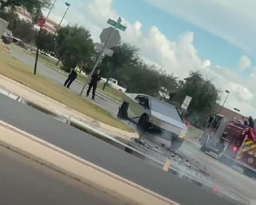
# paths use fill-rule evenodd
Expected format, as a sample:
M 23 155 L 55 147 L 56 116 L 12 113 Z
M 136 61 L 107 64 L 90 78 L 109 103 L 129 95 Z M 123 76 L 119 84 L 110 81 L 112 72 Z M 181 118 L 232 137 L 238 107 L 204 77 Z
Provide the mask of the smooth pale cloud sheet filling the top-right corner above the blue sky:
M 144 0 L 256 55 L 254 0 Z

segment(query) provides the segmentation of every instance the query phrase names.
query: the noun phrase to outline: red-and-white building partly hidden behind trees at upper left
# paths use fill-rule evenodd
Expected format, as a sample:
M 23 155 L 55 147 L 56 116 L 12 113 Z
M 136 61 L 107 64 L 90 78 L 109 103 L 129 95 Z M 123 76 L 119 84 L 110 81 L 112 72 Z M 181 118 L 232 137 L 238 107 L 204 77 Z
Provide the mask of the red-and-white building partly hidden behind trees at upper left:
M 24 9 L 16 8 L 16 12 L 20 19 L 32 22 L 31 16 Z M 57 24 L 56 22 L 54 22 L 50 19 L 47 19 L 44 29 L 46 29 L 48 32 L 54 33 L 56 31 L 56 29 L 58 28 L 58 25 L 59 24 Z M 37 29 L 39 31 L 39 26 L 35 25 L 35 29 Z

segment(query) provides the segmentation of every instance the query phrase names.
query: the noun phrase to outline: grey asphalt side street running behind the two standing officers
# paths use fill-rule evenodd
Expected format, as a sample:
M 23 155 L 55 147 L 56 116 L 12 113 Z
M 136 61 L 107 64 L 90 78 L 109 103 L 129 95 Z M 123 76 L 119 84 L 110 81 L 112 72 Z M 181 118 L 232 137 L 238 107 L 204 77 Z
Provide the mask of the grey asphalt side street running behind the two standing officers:
M 15 59 L 20 60 L 21 62 L 25 63 L 27 66 L 31 67 L 31 69 L 34 69 L 34 64 L 35 64 L 34 58 L 31 58 L 31 57 L 25 55 L 23 52 L 17 51 L 13 48 L 11 48 L 11 51 L 12 51 L 12 55 L 14 56 Z M 55 80 L 56 82 L 58 82 L 60 84 L 64 84 L 65 80 L 67 79 L 66 75 L 54 70 L 53 68 L 46 66 L 45 64 L 43 64 L 39 61 L 37 64 L 37 72 L 42 75 L 47 76 L 48 78 Z M 82 86 L 82 84 L 74 81 L 71 84 L 70 88 L 74 92 L 80 93 L 83 86 Z M 85 91 L 87 91 L 87 90 L 85 90 Z M 90 93 L 90 95 L 91 95 L 91 93 Z M 85 97 L 85 94 L 83 94 L 83 96 Z M 87 99 L 91 100 L 91 98 L 87 98 Z M 106 111 L 111 113 L 113 116 L 117 115 L 118 105 L 116 103 L 114 103 L 113 101 L 104 98 L 99 93 L 96 94 L 95 101 L 91 100 L 91 102 L 99 105 L 100 107 L 102 107 L 103 109 L 105 109 Z

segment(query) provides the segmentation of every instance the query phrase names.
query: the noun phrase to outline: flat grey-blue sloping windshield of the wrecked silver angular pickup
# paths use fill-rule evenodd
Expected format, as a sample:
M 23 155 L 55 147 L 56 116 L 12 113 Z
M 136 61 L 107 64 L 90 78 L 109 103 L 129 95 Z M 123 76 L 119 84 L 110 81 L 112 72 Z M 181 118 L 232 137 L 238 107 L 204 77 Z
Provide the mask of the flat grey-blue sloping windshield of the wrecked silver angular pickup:
M 176 121 L 182 122 L 175 106 L 162 102 L 157 99 L 151 99 L 151 109 L 167 117 L 171 117 Z

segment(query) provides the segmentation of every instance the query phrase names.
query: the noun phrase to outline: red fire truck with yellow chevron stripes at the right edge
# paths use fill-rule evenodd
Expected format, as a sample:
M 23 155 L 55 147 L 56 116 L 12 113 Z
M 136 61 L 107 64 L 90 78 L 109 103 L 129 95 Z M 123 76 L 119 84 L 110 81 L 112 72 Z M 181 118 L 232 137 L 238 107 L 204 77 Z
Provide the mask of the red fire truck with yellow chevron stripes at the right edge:
M 214 153 L 228 166 L 239 166 L 248 177 L 256 178 L 256 130 L 242 121 L 228 121 L 223 115 L 210 117 L 200 139 L 200 150 Z

